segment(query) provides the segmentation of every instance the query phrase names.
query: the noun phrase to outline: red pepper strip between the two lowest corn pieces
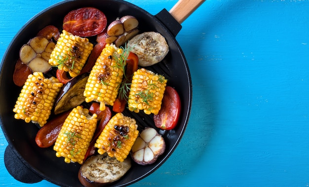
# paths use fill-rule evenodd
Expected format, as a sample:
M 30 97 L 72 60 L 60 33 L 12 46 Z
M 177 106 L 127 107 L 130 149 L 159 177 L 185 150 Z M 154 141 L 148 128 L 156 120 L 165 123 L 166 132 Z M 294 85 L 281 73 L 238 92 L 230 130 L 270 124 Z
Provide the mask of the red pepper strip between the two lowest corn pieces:
M 100 136 L 101 132 L 103 131 L 104 127 L 106 126 L 106 124 L 110 121 L 111 117 L 112 117 L 112 112 L 111 109 L 109 107 L 105 107 L 105 110 L 101 111 L 100 110 L 100 104 L 97 102 L 93 102 L 91 104 L 91 106 L 89 107 L 89 112 L 92 114 L 97 114 L 98 115 L 98 120 L 100 120 L 100 123 L 98 124 L 93 138 L 90 141 L 90 145 L 87 149 L 87 152 L 85 154 L 84 157 L 84 161 L 91 155 L 93 155 L 95 153 L 95 146 L 94 143 L 96 142 L 96 140 L 98 139 L 98 137 Z

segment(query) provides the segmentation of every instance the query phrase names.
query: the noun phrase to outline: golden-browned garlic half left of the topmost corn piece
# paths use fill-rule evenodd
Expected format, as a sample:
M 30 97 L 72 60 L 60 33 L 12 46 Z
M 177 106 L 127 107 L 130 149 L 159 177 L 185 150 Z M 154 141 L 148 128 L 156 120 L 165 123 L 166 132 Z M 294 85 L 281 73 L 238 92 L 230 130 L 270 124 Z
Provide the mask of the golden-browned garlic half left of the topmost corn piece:
M 26 45 L 21 47 L 19 58 L 22 63 L 29 66 L 32 72 L 44 73 L 51 69 L 48 60 L 54 47 L 55 43 L 48 41 L 42 36 L 38 36 L 31 39 Z

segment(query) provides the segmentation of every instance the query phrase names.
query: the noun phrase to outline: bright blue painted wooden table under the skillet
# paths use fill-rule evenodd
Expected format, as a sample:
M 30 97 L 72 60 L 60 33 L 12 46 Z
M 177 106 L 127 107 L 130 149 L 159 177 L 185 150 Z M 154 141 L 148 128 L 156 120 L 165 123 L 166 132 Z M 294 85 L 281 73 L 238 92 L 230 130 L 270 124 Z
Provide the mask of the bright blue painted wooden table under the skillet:
M 60 0 L 0 0 L 0 56 L 35 14 Z M 177 0 L 128 0 L 152 14 Z M 309 186 L 309 0 L 207 0 L 176 39 L 193 107 L 172 156 L 138 186 Z M 8 91 L 9 92 L 9 91 Z M 6 171 L 0 186 L 23 184 Z

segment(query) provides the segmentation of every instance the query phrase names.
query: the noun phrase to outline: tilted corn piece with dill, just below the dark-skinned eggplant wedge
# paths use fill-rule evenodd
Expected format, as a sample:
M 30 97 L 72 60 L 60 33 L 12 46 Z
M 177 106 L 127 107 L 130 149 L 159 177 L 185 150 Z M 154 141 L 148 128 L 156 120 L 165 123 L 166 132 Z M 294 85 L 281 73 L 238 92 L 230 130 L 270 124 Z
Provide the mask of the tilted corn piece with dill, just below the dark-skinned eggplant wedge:
M 53 147 L 56 156 L 64 157 L 66 163 L 82 164 L 96 127 L 96 114 L 91 116 L 82 106 L 74 108 L 63 123 Z

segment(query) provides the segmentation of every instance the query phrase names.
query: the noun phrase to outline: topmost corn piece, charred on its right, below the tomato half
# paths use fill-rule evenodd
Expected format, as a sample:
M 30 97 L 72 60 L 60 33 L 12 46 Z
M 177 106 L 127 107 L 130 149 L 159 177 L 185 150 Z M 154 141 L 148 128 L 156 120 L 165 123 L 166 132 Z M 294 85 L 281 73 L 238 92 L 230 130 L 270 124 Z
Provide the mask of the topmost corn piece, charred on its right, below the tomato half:
M 87 38 L 74 36 L 63 30 L 48 62 L 52 66 L 58 66 L 58 69 L 69 72 L 71 77 L 76 77 L 84 66 L 92 48 L 93 44 Z

